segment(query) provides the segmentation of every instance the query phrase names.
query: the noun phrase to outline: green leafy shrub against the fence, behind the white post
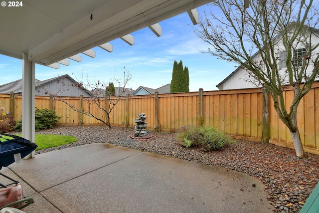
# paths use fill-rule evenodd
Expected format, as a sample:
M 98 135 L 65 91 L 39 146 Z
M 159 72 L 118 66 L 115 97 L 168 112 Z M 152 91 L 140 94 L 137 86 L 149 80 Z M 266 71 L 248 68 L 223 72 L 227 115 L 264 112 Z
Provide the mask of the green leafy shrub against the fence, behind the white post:
M 41 129 L 50 129 L 54 128 L 55 124 L 59 122 L 61 117 L 55 114 L 54 110 L 51 109 L 39 109 L 35 107 L 35 131 L 39 131 Z M 22 130 L 22 120 L 16 122 L 16 126 L 14 127 L 15 131 Z

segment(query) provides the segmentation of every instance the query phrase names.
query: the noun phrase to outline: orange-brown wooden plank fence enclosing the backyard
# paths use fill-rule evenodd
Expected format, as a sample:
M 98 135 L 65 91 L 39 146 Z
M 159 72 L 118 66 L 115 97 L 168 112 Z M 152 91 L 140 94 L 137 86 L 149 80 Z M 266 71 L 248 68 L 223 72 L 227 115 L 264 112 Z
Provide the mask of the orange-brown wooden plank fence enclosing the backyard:
M 284 91 L 287 104 L 292 103 L 293 90 Z M 106 120 L 92 100 L 83 97 L 62 97 L 76 108 L 90 109 L 95 116 Z M 0 107 L 21 118 L 21 95 L 0 95 Z M 105 103 L 102 103 L 105 104 Z M 36 96 L 35 106 L 53 109 L 61 116 L 60 125 L 98 125 L 100 121 L 74 111 L 66 103 L 47 96 Z M 269 141 L 294 148 L 289 129 L 278 118 L 269 94 L 261 89 L 238 89 L 129 96 L 121 99 L 110 114 L 113 126 L 134 127 L 139 113 L 147 116 L 148 128 L 157 131 L 180 130 L 182 126 L 215 126 L 237 139 Z M 298 127 L 306 152 L 319 154 L 319 82 L 302 99 L 298 108 Z

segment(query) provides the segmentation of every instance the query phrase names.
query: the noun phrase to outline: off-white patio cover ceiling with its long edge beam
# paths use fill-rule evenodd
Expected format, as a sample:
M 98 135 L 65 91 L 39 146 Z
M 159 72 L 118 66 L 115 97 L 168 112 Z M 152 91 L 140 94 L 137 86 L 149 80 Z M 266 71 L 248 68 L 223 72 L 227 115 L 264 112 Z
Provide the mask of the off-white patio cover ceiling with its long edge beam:
M 26 53 L 28 61 L 50 65 L 210 1 L 23 0 L 22 6 L 7 4 L 0 6 L 0 54 L 21 59 Z

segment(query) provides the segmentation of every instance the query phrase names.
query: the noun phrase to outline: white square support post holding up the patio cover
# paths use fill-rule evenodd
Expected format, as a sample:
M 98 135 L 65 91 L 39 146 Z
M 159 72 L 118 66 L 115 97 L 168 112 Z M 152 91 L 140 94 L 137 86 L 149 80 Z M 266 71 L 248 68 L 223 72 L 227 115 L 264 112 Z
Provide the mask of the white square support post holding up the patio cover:
M 35 63 L 22 55 L 22 137 L 33 142 L 35 138 Z M 35 152 L 24 159 L 34 158 Z

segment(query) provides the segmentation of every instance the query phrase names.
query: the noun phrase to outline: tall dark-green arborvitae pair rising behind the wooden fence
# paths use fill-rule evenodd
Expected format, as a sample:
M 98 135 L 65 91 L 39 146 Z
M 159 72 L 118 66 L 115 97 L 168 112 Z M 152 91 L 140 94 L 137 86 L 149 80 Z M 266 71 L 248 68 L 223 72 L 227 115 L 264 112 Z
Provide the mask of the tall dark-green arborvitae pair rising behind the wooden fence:
M 189 92 L 189 74 L 188 68 L 180 60 L 179 63 L 174 61 L 172 78 L 170 82 L 170 92 Z

